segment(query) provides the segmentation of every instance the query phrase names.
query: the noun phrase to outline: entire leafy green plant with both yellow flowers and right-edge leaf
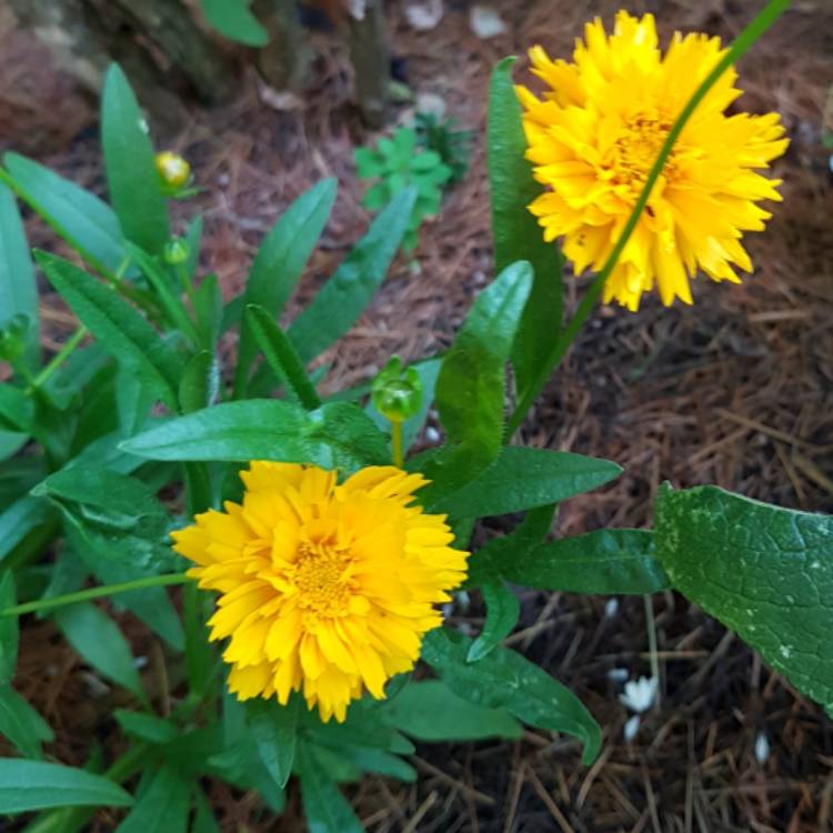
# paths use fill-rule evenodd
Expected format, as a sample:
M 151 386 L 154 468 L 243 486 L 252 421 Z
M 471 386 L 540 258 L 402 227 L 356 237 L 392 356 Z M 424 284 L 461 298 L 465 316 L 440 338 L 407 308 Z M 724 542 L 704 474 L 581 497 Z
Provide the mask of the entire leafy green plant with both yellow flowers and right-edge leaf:
M 743 265 L 741 232 L 756 228 L 757 201 L 775 193 L 755 171 L 783 140 L 772 117 L 723 114 L 734 94 L 723 73 L 784 6 L 771 2 L 729 51 L 680 38 L 664 58 L 650 19 L 620 17 L 612 36 L 593 24 L 575 66 L 533 53 L 552 92 L 543 102 L 522 92 L 523 108 L 511 61 L 500 63 L 488 137 L 492 282 L 442 355 L 408 367 L 392 359 L 362 389 L 329 397 L 308 368 L 384 280 L 414 191 L 383 208 L 284 328 L 333 181 L 288 208 L 244 291 L 224 302 L 217 278 L 199 273 L 199 218 L 172 231 L 175 194 L 118 68 L 101 119 L 110 203 L 6 154 L 0 812 L 40 813 L 30 830 L 41 833 L 82 830 L 98 806 L 126 807 L 121 833 L 211 831 L 205 779 L 257 791 L 279 813 L 294 775 L 309 827 L 344 833 L 361 825 L 338 784 L 363 772 L 412 781 L 413 741 L 516 739 L 526 724 L 572 736 L 589 764 L 602 729 L 502 644 L 518 621 L 518 585 L 676 589 L 833 709 L 833 520 L 711 486 L 668 486 L 653 530 L 551 538 L 558 504 L 619 466 L 514 443 L 603 289 L 633 307 L 653 283 L 665 300 L 685 298 L 697 267 L 727 278 L 731 263 Z M 691 77 L 676 98 L 660 96 L 681 78 L 679 50 Z M 651 112 L 633 109 L 635 89 Z M 720 178 L 697 160 L 723 164 Z M 83 263 L 36 253 L 80 321 L 46 364 L 16 197 Z M 563 238 L 576 267 L 600 269 L 566 323 L 561 259 L 544 234 Z M 229 331 L 237 360 L 223 367 L 218 343 Z M 432 403 L 444 442 L 411 454 Z M 514 529 L 472 549 L 479 519 L 515 513 Z M 442 605 L 460 588 L 485 602 L 475 636 L 443 623 Z M 164 673 L 140 674 L 113 615 L 122 611 L 163 645 Z M 127 707 L 112 715 L 119 757 L 93 752 L 83 769 L 44 760 L 52 731 L 12 685 L 19 618 L 29 614 L 51 616 L 80 659 L 122 690 Z

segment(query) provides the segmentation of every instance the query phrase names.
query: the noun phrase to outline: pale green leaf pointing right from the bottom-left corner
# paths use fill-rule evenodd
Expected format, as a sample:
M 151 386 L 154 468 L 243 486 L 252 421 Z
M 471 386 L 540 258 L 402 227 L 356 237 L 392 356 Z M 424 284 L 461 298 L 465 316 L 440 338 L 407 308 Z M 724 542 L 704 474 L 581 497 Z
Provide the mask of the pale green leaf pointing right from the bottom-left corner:
M 131 796 L 118 784 L 71 766 L 0 759 L 0 813 L 67 806 L 126 807 Z

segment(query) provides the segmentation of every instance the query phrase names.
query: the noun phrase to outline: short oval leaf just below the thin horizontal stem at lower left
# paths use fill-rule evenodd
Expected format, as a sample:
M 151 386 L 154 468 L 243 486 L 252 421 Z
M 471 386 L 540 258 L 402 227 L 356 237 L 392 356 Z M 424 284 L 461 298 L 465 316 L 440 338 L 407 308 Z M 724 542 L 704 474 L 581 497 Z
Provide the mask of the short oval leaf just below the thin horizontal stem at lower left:
M 54 618 L 67 641 L 90 665 L 142 702 L 147 700 L 130 645 L 109 616 L 83 602 L 58 608 Z

